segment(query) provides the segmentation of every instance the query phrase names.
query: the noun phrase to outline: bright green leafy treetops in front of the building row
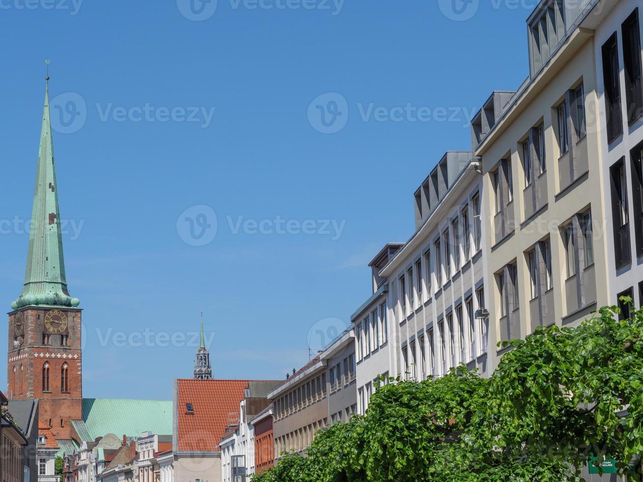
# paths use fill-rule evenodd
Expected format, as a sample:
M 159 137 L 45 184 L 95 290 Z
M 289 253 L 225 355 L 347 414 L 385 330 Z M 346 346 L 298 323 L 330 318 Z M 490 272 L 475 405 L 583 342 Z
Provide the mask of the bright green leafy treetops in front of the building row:
M 619 314 L 503 342 L 489 379 L 464 365 L 390 379 L 366 416 L 320 431 L 306 458 L 287 454 L 253 482 L 579 482 L 592 455 L 640 481 L 643 310 Z

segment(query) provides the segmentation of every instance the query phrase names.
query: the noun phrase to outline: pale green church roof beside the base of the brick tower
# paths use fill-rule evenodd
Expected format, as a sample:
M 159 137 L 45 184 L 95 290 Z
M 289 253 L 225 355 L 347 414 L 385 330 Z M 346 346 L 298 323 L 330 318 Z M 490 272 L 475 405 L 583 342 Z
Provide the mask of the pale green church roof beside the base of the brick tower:
M 147 430 L 171 435 L 172 400 L 83 398 L 82 419 L 83 433 L 89 434 L 89 441 L 107 434 L 140 437 Z

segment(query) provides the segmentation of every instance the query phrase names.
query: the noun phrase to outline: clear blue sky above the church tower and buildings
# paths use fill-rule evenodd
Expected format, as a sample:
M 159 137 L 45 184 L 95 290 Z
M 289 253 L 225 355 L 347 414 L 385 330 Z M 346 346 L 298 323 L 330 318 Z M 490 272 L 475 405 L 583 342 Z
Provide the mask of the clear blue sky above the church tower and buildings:
M 374 254 L 412 235 L 415 188 L 446 150 L 470 148 L 467 113 L 527 76 L 529 1 L 484 2 L 467 21 L 426 0 L 345 0 L 341 10 L 332 1 L 325 10 L 325 0 L 306 0 L 313 9 L 219 0 L 203 21 L 186 18 L 192 11 L 183 0 L 180 9 L 176 0 L 86 0 L 77 12 L 78 0 L 55 0 L 66 10 L 45 8 L 51 0 L 22 8 L 25 1 L 0 8 L 0 220 L 31 215 L 51 59 L 61 215 L 73 222 L 64 237 L 68 283 L 85 310 L 85 397 L 171 398 L 172 379 L 192 376 L 194 346 L 159 346 L 162 337 L 156 346 L 144 338 L 143 346 L 120 346 L 115 334 L 195 331 L 202 309 L 215 332 L 215 377 L 282 379 L 301 366 L 309 331 L 348 323 L 370 296 Z M 212 4 L 195 6 L 212 13 Z M 322 97 L 309 121 L 312 100 L 329 92 L 347 104 L 334 109 L 341 98 Z M 64 116 L 82 108 L 78 98 L 86 105 L 80 121 L 62 134 Z M 407 104 L 431 120 L 390 110 Z M 136 121 L 135 108 L 145 105 L 152 120 Z M 347 109 L 345 127 L 320 133 L 317 105 L 328 116 Z M 181 111 L 161 121 L 163 107 L 183 107 L 186 116 L 190 107 L 203 110 L 196 122 Z M 457 121 L 433 119 L 440 107 L 447 117 L 458 109 Z M 212 108 L 208 122 L 203 112 Z M 387 112 L 401 120 L 377 120 Z M 211 215 L 179 215 L 200 205 L 218 223 L 212 242 L 195 246 L 213 231 L 192 242 L 185 218 L 199 232 Z M 293 224 L 255 233 L 253 221 L 277 217 Z M 340 236 L 293 232 L 295 222 L 311 220 L 300 228 L 333 233 L 323 229 L 326 219 L 343 226 Z M 20 224 L 1 226 L 0 292 L 9 311 L 28 235 Z M 6 336 L 5 325 L 1 346 Z M 320 348 L 320 337 L 312 341 Z

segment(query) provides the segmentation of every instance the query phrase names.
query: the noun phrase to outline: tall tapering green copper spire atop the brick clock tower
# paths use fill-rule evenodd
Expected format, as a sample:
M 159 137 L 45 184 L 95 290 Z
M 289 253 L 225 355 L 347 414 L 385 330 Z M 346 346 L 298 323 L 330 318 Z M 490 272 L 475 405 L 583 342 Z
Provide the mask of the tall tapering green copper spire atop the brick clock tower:
M 79 303 L 78 298 L 69 296 L 65 260 L 62 254 L 58 183 L 49 113 L 48 75 L 24 287 L 22 294 L 11 304 L 11 307 L 14 310 L 28 306 L 77 307 Z

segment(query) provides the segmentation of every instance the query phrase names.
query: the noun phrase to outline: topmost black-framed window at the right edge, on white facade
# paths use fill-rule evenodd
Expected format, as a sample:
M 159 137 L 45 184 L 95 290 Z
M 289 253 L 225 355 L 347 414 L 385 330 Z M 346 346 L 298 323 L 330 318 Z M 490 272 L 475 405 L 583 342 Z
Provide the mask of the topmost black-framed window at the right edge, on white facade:
M 641 47 L 638 8 L 622 25 L 625 97 L 628 123 L 632 125 L 643 115 L 643 85 L 641 85 Z

